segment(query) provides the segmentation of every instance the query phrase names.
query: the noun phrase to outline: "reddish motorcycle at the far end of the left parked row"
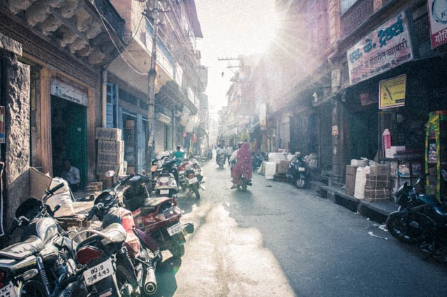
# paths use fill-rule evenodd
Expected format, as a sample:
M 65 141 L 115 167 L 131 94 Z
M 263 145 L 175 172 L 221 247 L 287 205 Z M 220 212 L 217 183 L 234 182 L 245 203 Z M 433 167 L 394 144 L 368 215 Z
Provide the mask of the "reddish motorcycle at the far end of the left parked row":
M 200 199 L 199 188 L 204 190 L 202 175 L 202 167 L 195 158 L 189 158 L 178 166 L 179 183 L 183 190 L 189 190 L 196 195 L 196 199 Z

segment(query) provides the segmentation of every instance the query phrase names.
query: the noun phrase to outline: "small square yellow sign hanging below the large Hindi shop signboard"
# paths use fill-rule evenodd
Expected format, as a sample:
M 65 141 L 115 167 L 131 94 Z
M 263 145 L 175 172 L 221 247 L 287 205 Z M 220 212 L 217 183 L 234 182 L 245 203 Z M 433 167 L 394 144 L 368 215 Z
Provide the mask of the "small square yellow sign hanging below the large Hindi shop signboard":
M 405 105 L 406 75 L 379 82 L 379 109 Z

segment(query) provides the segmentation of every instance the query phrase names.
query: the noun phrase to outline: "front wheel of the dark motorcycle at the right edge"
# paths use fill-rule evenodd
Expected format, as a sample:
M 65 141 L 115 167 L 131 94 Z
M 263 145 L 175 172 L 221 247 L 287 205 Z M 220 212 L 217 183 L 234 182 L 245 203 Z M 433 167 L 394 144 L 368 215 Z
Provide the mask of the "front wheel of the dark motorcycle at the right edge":
M 404 213 L 391 213 L 386 219 L 386 229 L 402 243 L 415 243 L 420 238 L 420 230 L 410 226 Z

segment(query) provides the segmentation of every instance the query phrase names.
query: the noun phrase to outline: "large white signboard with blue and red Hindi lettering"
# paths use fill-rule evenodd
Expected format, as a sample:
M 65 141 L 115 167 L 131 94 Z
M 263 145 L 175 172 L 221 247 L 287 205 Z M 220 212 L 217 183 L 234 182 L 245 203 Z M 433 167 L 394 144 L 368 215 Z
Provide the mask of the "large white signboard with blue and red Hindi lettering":
M 349 82 L 357 84 L 413 59 L 405 12 L 388 20 L 347 52 Z

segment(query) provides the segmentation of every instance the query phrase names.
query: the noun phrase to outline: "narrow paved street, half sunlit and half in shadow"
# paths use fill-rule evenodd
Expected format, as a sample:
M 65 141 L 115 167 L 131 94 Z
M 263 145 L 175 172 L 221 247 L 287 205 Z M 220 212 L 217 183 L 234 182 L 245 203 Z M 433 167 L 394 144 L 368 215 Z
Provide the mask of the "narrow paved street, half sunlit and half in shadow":
M 163 254 L 156 296 L 445 296 L 446 270 L 379 224 L 287 183 L 254 174 L 230 190 L 228 165 L 203 165 L 200 201 L 178 198 L 181 260 Z M 388 238 L 376 238 L 368 234 Z

